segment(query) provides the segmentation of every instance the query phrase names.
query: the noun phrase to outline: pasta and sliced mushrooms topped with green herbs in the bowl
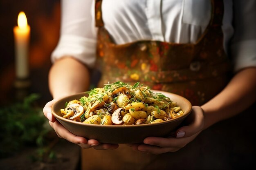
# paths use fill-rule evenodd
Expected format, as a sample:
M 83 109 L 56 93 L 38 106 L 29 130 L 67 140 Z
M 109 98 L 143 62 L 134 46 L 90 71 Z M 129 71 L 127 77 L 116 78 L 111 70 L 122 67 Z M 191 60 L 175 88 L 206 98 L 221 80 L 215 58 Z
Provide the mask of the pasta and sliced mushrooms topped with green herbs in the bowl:
M 175 119 L 184 114 L 177 103 L 162 93 L 154 93 L 139 82 L 105 84 L 86 92 L 79 100 L 61 108 L 65 119 L 85 124 L 140 125 Z

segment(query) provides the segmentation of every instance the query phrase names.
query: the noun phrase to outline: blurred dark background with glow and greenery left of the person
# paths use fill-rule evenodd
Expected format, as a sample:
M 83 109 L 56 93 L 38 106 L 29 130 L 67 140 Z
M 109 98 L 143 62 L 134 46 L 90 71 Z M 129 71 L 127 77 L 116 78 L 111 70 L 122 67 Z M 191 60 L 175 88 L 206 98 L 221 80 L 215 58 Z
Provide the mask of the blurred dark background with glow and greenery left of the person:
M 30 26 L 29 86 L 24 87 L 14 86 L 13 27 L 20 11 Z M 60 0 L 0 0 L 1 170 L 79 169 L 79 146 L 59 139 L 42 112 L 52 99 L 48 72 L 59 38 L 60 12 Z

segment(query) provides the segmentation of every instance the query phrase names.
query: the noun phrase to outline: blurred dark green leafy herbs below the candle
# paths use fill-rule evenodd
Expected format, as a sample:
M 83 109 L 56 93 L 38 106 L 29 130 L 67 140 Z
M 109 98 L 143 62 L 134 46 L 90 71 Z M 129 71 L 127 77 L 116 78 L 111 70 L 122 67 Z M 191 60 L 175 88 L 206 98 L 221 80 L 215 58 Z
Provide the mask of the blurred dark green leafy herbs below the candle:
M 39 98 L 33 93 L 22 102 L 0 108 L 0 158 L 11 156 L 23 146 L 45 145 L 49 128 L 45 127 L 43 108 L 36 106 Z

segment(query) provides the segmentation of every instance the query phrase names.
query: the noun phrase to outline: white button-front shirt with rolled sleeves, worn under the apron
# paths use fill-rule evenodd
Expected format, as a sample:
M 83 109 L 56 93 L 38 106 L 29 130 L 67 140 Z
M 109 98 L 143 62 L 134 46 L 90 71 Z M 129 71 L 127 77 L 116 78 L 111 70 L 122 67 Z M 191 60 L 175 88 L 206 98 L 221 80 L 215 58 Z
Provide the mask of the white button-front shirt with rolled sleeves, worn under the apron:
M 234 71 L 256 66 L 256 0 L 224 0 L 224 8 L 223 46 L 233 59 Z M 70 55 L 93 67 L 94 0 L 62 0 L 61 9 L 61 35 L 52 62 Z M 103 0 L 102 13 L 104 26 L 117 44 L 194 43 L 211 19 L 211 0 Z

